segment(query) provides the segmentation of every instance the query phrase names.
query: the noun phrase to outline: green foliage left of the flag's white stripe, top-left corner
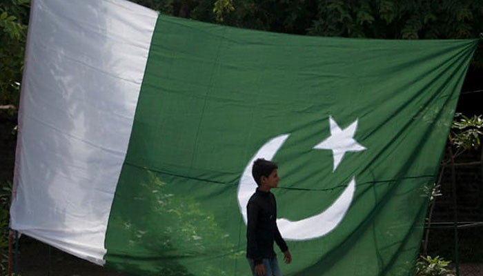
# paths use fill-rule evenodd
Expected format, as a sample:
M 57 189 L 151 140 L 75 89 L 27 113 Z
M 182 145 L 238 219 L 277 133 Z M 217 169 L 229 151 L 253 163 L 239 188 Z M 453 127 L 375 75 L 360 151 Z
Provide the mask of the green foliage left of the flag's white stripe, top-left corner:
M 30 0 L 0 2 L 0 106 L 18 106 L 29 8 Z

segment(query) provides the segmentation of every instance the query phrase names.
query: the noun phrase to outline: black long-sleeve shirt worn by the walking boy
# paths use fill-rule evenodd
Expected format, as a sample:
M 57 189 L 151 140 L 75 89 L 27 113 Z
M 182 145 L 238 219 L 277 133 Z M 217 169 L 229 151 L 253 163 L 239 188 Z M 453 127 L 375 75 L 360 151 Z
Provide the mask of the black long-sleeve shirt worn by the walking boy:
M 275 257 L 273 241 L 280 250 L 288 250 L 277 227 L 277 202 L 270 192 L 259 189 L 248 200 L 246 206 L 248 221 L 246 229 L 246 257 L 256 264 L 262 264 L 262 259 Z

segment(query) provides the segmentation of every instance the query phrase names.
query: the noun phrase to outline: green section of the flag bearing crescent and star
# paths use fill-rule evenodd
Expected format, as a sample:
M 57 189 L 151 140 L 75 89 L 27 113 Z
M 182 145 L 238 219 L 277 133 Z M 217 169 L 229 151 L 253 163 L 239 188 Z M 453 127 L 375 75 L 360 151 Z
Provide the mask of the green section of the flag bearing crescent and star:
M 106 233 L 133 275 L 250 275 L 244 178 L 279 164 L 283 275 L 411 275 L 477 40 L 302 37 L 159 16 Z M 270 157 L 271 156 L 271 157 Z

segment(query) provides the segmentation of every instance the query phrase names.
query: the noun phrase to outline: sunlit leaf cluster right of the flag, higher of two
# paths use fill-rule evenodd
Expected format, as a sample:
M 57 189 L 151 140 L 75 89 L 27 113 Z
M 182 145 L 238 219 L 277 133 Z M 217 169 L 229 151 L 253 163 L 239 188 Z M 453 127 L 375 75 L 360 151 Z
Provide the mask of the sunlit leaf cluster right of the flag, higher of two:
M 481 139 L 483 136 L 482 115 L 474 115 L 469 118 L 457 113 L 451 128 L 451 143 L 457 148 L 469 150 L 481 146 Z

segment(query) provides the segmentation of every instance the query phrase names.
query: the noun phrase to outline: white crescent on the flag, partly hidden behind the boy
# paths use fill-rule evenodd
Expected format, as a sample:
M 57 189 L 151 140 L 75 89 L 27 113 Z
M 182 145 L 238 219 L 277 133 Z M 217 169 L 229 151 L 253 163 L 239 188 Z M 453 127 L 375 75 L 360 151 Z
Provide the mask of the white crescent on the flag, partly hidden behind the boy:
M 282 147 L 288 136 L 289 134 L 284 134 L 270 139 L 258 150 L 245 167 L 238 185 L 238 204 L 245 224 L 247 219 L 246 204 L 248 204 L 248 199 L 250 199 L 257 188 L 251 172 L 253 161 L 258 158 L 273 159 L 273 156 Z M 284 218 L 277 219 L 277 226 L 282 237 L 288 240 L 300 241 L 322 237 L 331 232 L 346 215 L 348 208 L 351 206 L 354 192 L 355 178 L 353 177 L 344 189 L 344 192 L 324 212 L 297 221 L 290 221 Z

